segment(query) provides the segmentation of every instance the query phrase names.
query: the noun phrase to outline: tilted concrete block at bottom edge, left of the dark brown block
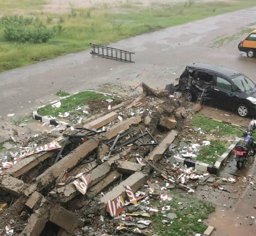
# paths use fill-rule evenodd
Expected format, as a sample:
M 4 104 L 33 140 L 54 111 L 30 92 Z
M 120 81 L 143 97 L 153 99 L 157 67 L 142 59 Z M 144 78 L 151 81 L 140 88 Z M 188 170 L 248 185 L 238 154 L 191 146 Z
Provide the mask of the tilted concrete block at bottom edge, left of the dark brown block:
M 21 232 L 21 236 L 38 236 L 43 231 L 45 224 L 48 220 L 46 218 L 39 217 L 36 213 L 30 216 L 30 220 Z

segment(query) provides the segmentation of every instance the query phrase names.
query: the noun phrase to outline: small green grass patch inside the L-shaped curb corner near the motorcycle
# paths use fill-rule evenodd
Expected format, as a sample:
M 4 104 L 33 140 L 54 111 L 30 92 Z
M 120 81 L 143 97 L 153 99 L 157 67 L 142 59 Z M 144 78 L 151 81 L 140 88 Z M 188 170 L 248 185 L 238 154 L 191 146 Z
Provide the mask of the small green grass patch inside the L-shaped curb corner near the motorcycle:
M 202 146 L 195 159 L 197 161 L 213 165 L 218 160 L 219 156 L 225 151 L 226 147 L 223 142 L 210 140 L 210 145 Z

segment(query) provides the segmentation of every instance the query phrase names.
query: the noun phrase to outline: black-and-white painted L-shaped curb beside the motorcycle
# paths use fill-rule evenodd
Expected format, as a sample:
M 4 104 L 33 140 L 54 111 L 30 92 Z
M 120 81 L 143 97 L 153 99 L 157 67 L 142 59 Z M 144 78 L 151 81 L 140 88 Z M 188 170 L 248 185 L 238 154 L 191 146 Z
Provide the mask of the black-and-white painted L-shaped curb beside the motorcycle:
M 233 143 L 228 147 L 228 149 L 218 158 L 215 162 L 214 166 L 210 164 L 203 163 L 201 161 L 192 160 L 189 158 L 183 157 L 174 157 L 175 160 L 179 163 L 185 164 L 187 167 L 194 167 L 196 170 L 201 170 L 203 172 L 208 171 L 211 174 L 217 174 L 220 170 L 220 167 L 228 160 L 228 158 L 232 154 L 232 150 L 234 149 L 235 145 L 238 144 L 243 139 L 236 138 Z

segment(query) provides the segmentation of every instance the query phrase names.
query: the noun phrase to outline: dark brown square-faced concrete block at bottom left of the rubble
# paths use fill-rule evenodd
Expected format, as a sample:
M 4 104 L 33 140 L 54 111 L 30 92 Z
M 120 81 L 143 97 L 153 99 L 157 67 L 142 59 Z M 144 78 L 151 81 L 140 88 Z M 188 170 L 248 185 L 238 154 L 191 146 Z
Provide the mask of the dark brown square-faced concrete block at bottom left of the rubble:
M 68 233 L 73 233 L 80 224 L 80 220 L 74 214 L 60 205 L 54 205 L 49 214 L 49 221 L 62 227 Z

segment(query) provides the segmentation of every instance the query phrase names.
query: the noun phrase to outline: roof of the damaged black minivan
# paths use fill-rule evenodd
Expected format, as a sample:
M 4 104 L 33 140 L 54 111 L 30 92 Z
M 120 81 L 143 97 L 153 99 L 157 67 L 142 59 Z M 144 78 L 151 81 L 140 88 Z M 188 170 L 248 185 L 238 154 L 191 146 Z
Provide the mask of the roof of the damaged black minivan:
M 224 66 L 218 66 L 218 65 L 215 65 L 215 64 L 194 62 L 194 63 L 188 64 L 187 66 L 189 68 L 203 69 L 203 70 L 207 70 L 207 71 L 213 72 L 213 73 L 217 72 L 217 73 L 225 75 L 225 76 L 232 76 L 232 75 L 241 74 L 241 72 L 239 72 L 237 70 L 230 69 L 230 68 L 224 67 Z

